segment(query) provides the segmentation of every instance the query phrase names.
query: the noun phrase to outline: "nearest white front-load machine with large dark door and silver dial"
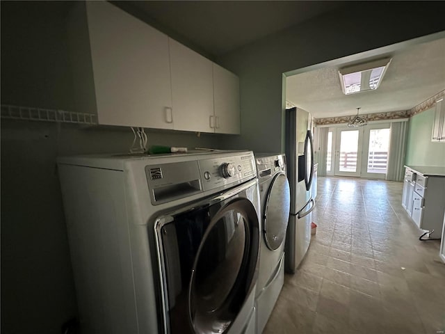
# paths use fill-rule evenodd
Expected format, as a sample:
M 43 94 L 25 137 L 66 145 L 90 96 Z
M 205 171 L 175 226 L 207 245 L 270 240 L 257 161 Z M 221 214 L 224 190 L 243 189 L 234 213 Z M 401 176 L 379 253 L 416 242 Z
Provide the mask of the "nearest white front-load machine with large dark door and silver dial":
M 254 334 L 252 152 L 58 159 L 82 333 Z

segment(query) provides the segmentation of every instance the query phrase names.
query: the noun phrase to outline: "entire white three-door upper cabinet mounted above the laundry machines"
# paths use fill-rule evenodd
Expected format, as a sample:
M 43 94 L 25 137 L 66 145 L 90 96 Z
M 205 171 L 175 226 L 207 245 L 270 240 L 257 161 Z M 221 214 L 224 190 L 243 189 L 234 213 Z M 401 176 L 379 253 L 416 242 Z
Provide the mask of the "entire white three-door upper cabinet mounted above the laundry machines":
M 101 125 L 240 133 L 236 75 L 106 1 L 68 19 L 76 111 Z

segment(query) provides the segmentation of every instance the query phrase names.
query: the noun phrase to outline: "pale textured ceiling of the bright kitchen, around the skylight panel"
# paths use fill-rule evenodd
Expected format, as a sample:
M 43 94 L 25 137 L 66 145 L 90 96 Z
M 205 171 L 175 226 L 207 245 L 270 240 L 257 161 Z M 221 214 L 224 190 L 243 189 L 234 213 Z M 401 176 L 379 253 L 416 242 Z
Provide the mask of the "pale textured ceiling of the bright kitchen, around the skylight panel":
M 404 111 L 445 89 L 445 38 L 382 54 L 392 61 L 377 90 L 343 95 L 338 70 L 325 67 L 286 79 L 286 100 L 315 118 Z M 355 63 L 360 63 L 359 61 Z

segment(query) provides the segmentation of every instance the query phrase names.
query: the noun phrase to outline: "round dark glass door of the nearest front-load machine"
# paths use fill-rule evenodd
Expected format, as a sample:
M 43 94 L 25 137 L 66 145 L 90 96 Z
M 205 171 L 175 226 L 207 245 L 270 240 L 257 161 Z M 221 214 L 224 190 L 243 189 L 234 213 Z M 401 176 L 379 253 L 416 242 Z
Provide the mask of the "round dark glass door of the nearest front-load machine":
M 254 284 L 258 237 L 257 214 L 245 198 L 212 218 L 189 287 L 189 317 L 196 333 L 225 333 L 232 325 Z

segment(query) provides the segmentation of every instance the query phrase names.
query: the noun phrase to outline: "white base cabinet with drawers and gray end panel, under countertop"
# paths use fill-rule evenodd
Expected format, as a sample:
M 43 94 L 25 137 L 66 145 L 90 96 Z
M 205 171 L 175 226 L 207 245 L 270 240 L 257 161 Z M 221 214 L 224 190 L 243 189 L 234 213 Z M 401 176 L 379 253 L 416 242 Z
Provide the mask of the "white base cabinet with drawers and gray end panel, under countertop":
M 406 168 L 402 205 L 421 230 L 432 231 L 430 238 L 442 237 L 445 213 L 445 177 L 422 175 Z

